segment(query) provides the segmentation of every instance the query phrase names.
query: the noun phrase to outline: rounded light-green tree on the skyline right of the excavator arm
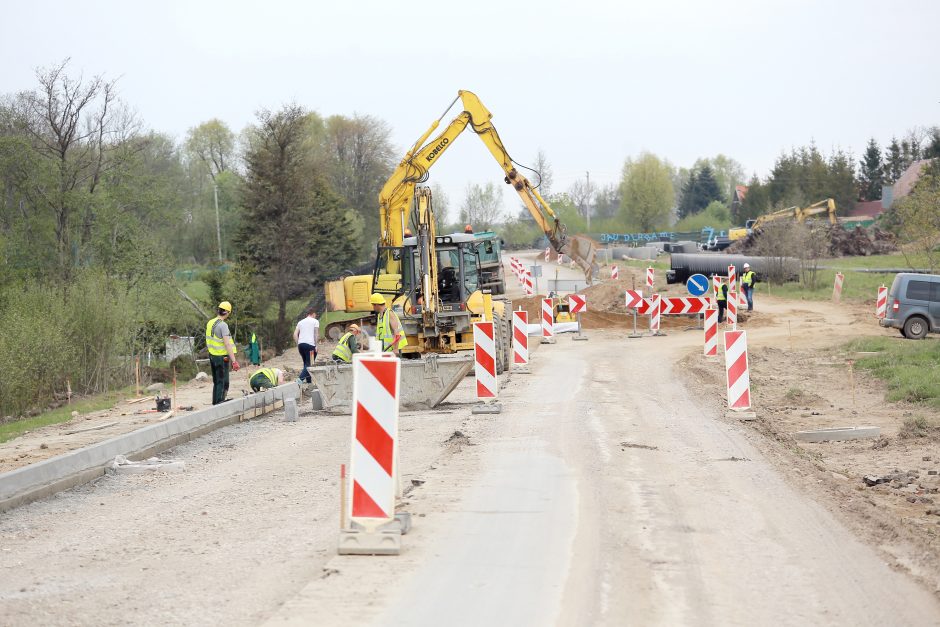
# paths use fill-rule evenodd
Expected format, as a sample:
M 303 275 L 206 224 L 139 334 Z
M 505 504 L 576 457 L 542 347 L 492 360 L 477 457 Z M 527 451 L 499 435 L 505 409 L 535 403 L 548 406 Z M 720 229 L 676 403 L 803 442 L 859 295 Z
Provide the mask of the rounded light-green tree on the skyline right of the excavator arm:
M 675 206 L 673 168 L 654 154 L 627 159 L 621 177 L 620 210 L 628 228 L 649 232 L 665 228 Z

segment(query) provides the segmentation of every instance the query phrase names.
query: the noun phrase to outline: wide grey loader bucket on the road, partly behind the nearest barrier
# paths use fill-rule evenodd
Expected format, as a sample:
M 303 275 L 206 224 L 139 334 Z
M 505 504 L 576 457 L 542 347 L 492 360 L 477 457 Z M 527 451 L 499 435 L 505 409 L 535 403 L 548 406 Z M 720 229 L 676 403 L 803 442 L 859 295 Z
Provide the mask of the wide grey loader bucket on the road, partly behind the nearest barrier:
M 421 359 L 403 359 L 399 406 L 411 410 L 436 407 L 472 368 L 473 355 L 469 353 L 427 353 Z M 348 414 L 352 410 L 352 365 L 315 366 L 308 371 L 325 411 Z

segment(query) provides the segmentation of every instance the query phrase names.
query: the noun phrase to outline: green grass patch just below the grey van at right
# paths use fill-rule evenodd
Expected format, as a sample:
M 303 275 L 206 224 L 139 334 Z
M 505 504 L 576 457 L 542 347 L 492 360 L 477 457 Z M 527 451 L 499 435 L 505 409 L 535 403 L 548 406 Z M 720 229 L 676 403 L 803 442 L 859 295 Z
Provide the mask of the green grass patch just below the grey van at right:
M 846 345 L 849 351 L 877 351 L 855 362 L 857 368 L 882 379 L 889 401 L 923 403 L 940 408 L 940 342 L 900 341 L 887 337 L 860 338 Z

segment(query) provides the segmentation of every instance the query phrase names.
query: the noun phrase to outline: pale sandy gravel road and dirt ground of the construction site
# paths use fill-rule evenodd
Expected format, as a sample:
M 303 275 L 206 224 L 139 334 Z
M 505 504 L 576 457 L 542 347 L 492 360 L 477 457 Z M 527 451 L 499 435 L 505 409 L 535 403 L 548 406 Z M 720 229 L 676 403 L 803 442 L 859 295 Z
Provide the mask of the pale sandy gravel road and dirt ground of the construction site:
M 843 348 L 906 340 L 873 303 L 759 290 L 741 324 L 756 420 L 742 421 L 694 319 L 627 337 L 623 290 L 643 280 L 621 265 L 585 290 L 588 341 L 533 343 L 532 373 L 501 380 L 501 414 L 471 414 L 472 378 L 403 413 L 402 555 L 336 555 L 350 421 L 305 405 L 297 422 L 273 413 L 168 451 L 185 472 L 109 475 L 0 515 L 0 622 L 940 624 L 940 443 L 899 434 L 935 412 L 885 402 Z M 177 404 L 209 393 L 186 384 Z M 152 419 L 130 411 L 78 423 Z M 850 426 L 883 437 L 792 437 Z M 2 469 L 107 432 L 47 429 L 0 446 Z

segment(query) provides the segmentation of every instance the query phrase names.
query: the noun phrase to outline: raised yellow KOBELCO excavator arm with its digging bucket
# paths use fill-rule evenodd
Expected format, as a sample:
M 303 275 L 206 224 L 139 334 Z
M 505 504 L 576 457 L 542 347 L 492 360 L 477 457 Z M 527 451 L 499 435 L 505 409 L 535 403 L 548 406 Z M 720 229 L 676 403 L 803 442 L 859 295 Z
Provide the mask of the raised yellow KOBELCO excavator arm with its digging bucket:
M 431 134 L 440 124 L 441 119 L 458 99 L 461 100 L 464 110 L 451 121 L 443 132 L 428 141 L 428 138 L 431 137 Z M 447 108 L 447 111 L 418 138 L 418 141 L 405 154 L 405 157 L 379 193 L 382 244 L 385 246 L 401 245 L 415 186 L 427 180 L 428 170 L 431 166 L 446 152 L 454 140 L 466 130 L 467 126 L 470 126 L 486 145 L 493 158 L 499 163 L 505 176 L 505 182 L 512 185 L 513 189 L 519 194 L 522 203 L 529 210 L 542 232 L 548 237 L 552 247 L 573 259 L 590 281 L 591 277 L 597 272 L 597 265 L 594 263 L 595 250 L 593 243 L 586 238 L 573 239 L 568 237 L 565 226 L 559 221 L 558 216 L 555 215 L 549 204 L 529 180 L 516 169 L 509 152 L 490 121 L 493 115 L 480 102 L 480 99 L 472 92 L 460 91 L 457 98 Z

